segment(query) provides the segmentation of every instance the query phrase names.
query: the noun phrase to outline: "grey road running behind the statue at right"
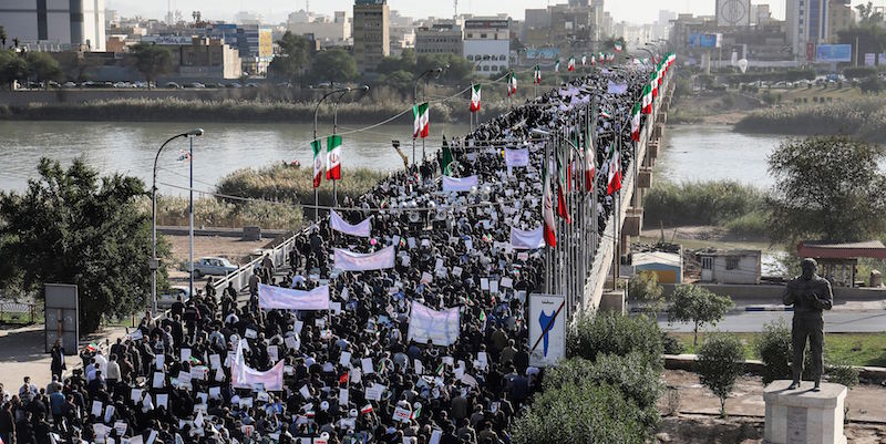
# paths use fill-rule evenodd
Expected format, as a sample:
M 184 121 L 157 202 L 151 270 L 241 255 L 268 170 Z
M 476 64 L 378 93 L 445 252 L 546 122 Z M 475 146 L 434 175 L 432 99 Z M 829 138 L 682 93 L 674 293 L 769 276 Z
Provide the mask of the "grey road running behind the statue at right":
M 790 311 L 732 311 L 715 327 L 703 326 L 704 331 L 735 333 L 762 331 L 766 322 L 784 319 L 790 326 Z M 658 317 L 659 327 L 667 331 L 691 332 L 690 323 L 668 324 L 667 316 Z M 868 333 L 886 331 L 886 310 L 831 311 L 824 313 L 825 333 Z

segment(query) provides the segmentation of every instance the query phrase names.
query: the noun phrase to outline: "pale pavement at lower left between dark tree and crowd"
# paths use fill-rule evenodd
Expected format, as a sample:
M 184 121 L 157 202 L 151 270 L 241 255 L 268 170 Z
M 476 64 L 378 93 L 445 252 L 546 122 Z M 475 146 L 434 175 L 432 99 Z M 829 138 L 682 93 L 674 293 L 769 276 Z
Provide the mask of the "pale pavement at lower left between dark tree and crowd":
M 90 341 L 104 342 L 105 339 L 116 341 L 126 334 L 122 327 L 109 328 L 87 337 Z M 50 363 L 52 358 L 44 349 L 43 326 L 29 326 L 10 330 L 0 330 L 0 383 L 10 393 L 18 393 L 24 376 L 31 376 L 31 383 L 43 389 L 51 381 Z M 76 354 L 65 357 L 68 365 L 65 374 L 82 364 Z

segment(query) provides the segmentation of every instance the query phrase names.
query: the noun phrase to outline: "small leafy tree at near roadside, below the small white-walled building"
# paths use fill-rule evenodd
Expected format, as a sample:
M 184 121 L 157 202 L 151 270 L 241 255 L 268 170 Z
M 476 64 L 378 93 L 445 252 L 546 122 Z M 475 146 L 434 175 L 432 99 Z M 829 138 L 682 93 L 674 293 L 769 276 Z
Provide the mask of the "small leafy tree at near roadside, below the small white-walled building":
M 672 303 L 668 311 L 668 322 L 692 322 L 694 345 L 699 344 L 699 327 L 705 323 L 715 326 L 735 306 L 728 297 L 690 283 L 677 286 L 669 299 Z

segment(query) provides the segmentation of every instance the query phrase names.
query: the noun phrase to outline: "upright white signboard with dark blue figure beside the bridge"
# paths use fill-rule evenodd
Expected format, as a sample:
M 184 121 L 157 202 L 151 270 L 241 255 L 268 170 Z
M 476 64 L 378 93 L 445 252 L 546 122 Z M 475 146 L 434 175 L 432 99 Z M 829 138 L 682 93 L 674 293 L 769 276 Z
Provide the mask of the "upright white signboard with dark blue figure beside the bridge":
M 566 355 L 566 298 L 529 296 L 529 365 L 550 366 Z

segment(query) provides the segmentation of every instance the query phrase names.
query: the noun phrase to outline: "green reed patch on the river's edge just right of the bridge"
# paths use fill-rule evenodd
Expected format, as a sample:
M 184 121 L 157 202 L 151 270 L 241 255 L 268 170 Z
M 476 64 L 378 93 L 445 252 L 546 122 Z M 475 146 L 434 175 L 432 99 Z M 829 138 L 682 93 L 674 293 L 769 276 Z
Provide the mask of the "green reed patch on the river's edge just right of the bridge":
M 725 225 L 764 208 L 765 195 L 735 180 L 657 180 L 643 200 L 650 226 Z

